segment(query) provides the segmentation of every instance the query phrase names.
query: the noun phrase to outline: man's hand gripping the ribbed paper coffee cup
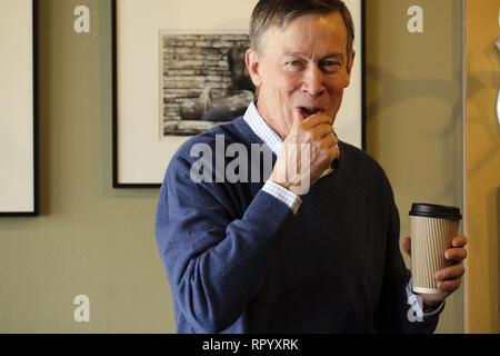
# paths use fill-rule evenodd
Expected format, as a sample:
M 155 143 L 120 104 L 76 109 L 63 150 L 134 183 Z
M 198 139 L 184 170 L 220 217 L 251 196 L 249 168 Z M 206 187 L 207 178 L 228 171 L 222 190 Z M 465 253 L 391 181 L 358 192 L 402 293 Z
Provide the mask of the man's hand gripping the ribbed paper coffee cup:
M 467 257 L 467 237 L 458 235 L 451 241 L 452 247 L 444 251 L 444 258 L 452 261 L 452 265 L 441 269 L 436 274 L 436 281 L 438 289 L 442 290 L 442 294 L 423 294 L 418 293 L 422 297 L 422 301 L 427 306 L 433 306 L 443 301 L 450 294 L 457 290 L 461 283 L 462 276 L 466 273 L 466 268 L 462 265 L 463 259 Z M 402 244 L 403 250 L 411 256 L 411 238 L 406 237 Z

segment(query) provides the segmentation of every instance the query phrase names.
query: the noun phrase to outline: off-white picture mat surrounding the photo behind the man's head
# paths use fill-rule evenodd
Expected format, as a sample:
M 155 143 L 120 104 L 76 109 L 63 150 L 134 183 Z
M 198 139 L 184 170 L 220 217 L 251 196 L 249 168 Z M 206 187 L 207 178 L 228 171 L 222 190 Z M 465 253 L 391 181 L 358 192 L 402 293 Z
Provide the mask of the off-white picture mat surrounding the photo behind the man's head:
M 190 137 L 161 137 L 160 33 L 248 33 L 257 3 L 234 0 L 117 0 L 117 176 L 119 185 L 158 185 Z M 356 19 L 357 60 L 336 121 L 341 140 L 361 147 L 361 1 L 346 1 Z

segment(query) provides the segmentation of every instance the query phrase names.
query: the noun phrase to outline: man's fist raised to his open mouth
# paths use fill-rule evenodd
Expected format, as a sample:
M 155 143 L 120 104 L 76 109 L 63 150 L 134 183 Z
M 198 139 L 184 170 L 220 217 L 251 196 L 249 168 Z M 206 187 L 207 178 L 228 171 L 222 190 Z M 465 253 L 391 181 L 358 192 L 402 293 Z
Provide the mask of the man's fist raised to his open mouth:
M 293 126 L 283 141 L 271 180 L 300 196 L 307 194 L 331 162 L 340 156 L 333 119 L 317 113 L 304 119 L 294 112 Z

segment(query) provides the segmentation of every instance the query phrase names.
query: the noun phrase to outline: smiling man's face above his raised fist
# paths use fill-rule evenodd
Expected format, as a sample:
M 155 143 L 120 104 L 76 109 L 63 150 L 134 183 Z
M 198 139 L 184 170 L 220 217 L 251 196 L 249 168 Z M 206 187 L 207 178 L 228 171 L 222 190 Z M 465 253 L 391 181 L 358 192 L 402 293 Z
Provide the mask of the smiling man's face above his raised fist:
M 247 53 L 249 72 L 260 89 L 259 112 L 282 138 L 298 117 L 321 112 L 333 125 L 353 56 L 348 59 L 347 29 L 339 12 L 306 14 L 284 29 L 270 28 L 262 53 Z

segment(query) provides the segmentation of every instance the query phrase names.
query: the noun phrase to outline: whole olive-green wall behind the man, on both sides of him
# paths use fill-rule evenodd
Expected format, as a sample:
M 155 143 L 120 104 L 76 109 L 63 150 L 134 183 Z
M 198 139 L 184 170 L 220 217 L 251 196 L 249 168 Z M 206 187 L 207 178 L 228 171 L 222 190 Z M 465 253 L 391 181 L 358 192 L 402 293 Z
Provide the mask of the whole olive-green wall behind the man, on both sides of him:
M 112 188 L 111 12 L 39 1 L 40 216 L 0 218 L 0 333 L 173 333 L 154 241 L 158 189 Z M 414 1 L 413 1 L 414 2 Z M 462 206 L 461 1 L 426 4 L 426 33 L 406 31 L 403 0 L 367 3 L 367 145 L 386 168 L 409 235 L 413 200 Z M 77 295 L 90 323 L 76 323 Z M 440 332 L 463 332 L 463 296 Z

